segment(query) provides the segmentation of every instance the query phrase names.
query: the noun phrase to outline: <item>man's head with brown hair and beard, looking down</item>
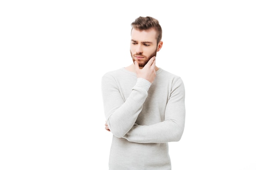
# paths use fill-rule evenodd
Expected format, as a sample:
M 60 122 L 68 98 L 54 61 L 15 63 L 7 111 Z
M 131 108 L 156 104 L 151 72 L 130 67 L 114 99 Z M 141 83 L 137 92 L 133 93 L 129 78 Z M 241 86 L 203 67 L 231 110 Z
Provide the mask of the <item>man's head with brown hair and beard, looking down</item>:
M 155 18 L 139 17 L 131 24 L 130 53 L 133 62 L 144 67 L 162 48 L 162 28 Z

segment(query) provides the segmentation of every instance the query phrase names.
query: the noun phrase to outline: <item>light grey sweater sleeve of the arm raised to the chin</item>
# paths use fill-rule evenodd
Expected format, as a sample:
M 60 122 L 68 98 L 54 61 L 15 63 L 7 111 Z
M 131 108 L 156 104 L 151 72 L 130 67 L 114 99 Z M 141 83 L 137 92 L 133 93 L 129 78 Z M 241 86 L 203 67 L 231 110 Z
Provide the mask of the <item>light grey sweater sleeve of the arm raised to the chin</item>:
M 137 78 L 137 83 L 125 100 L 118 87 L 118 83 L 111 74 L 102 77 L 101 91 L 106 121 L 110 131 L 116 137 L 124 135 L 134 126 L 142 110 L 143 103 L 148 96 L 151 83 L 146 79 Z

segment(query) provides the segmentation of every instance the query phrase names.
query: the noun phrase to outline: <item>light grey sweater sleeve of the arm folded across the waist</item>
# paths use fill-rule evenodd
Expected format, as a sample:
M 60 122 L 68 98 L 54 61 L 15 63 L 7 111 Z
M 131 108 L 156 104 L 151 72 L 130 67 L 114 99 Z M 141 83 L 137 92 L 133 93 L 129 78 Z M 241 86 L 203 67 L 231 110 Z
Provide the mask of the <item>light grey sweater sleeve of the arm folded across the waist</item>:
M 136 143 L 165 143 L 179 141 L 185 124 L 185 89 L 179 78 L 172 85 L 171 96 L 165 110 L 165 120 L 150 126 L 135 124 L 124 136 Z

